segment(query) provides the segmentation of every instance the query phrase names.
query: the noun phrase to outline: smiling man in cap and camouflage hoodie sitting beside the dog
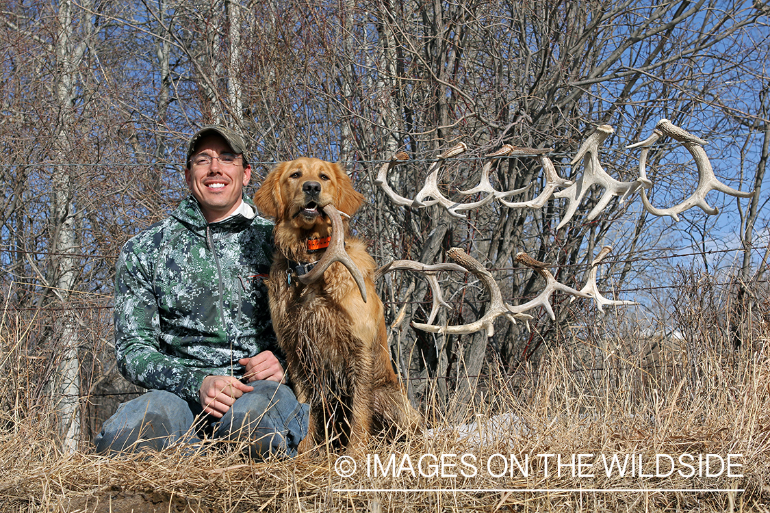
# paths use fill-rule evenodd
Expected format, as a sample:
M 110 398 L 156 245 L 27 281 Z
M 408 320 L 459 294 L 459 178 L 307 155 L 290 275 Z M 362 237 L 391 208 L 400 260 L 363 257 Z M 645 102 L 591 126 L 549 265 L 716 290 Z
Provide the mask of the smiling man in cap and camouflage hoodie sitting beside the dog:
M 120 405 L 99 452 L 160 450 L 203 435 L 253 456 L 296 454 L 307 405 L 283 381 L 263 278 L 273 226 L 243 196 L 243 139 L 209 126 L 189 141 L 191 195 L 126 243 L 115 270 L 115 354 L 149 388 Z M 246 200 L 246 201 L 245 201 Z

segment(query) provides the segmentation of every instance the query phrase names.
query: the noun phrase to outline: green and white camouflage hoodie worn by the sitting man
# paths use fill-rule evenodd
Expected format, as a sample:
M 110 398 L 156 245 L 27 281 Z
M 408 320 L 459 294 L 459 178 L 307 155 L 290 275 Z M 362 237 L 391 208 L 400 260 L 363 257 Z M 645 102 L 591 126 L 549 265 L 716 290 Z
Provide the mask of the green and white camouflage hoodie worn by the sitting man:
M 283 364 L 263 284 L 272 232 L 259 216 L 208 224 L 190 196 L 126 242 L 115 270 L 121 374 L 198 402 L 207 375 L 243 376 L 240 358 L 269 350 Z

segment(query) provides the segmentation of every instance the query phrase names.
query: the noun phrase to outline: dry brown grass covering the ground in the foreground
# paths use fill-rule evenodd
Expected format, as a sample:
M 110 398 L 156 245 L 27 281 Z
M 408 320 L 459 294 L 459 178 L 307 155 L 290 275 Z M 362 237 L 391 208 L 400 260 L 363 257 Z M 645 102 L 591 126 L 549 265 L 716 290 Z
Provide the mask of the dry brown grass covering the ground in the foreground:
M 337 454 L 250 461 L 221 443 L 192 455 L 105 458 L 88 444 L 63 454 L 49 412 L 19 403 L 28 376 L 9 363 L 19 341 L 6 335 L 0 512 L 770 511 L 765 337 L 755 330 L 741 351 L 688 341 L 653 367 L 616 341 L 586 371 L 553 349 L 537 372 L 490 372 L 484 408 L 423 406 L 431 431 L 373 441 L 345 477 Z M 613 456 L 628 458 L 624 475 L 605 469 Z

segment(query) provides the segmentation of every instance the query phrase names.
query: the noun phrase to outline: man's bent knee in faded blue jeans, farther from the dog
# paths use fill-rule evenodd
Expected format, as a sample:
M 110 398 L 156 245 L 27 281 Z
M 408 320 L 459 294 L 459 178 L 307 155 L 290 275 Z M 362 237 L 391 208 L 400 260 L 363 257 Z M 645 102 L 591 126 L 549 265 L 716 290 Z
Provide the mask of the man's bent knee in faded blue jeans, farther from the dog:
M 178 441 L 192 426 L 187 401 L 152 390 L 119 406 L 94 439 L 97 452 L 159 451 Z

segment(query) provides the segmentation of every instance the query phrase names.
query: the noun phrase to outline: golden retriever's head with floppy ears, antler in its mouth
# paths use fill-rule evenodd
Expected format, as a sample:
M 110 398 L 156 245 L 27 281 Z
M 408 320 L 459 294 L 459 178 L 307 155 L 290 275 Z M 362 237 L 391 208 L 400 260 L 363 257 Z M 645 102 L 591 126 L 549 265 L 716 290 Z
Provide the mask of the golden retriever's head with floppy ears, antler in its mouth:
M 353 189 L 340 165 L 306 157 L 281 162 L 254 195 L 256 208 L 276 223 L 308 230 L 316 224 L 326 225 L 326 205 L 353 215 L 362 203 L 363 195 Z

